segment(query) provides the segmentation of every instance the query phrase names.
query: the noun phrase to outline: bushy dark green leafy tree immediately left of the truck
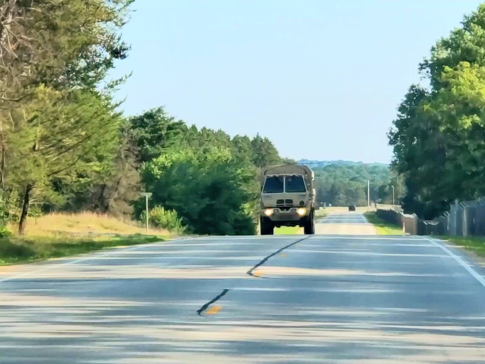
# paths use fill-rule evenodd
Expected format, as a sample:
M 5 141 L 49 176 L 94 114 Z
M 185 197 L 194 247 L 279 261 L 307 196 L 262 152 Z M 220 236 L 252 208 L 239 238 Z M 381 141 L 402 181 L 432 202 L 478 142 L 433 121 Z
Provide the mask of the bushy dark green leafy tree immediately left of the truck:
M 230 149 L 210 153 L 170 150 L 144 165 L 142 178 L 152 201 L 177 211 L 189 231 L 199 234 L 254 234 L 245 204 L 255 201 L 254 174 L 231 161 Z

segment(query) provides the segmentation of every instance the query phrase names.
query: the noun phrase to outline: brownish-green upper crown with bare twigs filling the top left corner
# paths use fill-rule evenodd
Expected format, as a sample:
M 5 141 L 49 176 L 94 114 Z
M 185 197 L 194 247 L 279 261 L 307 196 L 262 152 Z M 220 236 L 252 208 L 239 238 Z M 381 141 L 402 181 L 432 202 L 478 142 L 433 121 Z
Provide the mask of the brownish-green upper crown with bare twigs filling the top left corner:
M 133 0 L 4 1 L 0 6 L 0 101 L 35 97 L 35 88 L 95 88 L 126 57 L 121 41 Z

